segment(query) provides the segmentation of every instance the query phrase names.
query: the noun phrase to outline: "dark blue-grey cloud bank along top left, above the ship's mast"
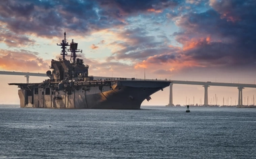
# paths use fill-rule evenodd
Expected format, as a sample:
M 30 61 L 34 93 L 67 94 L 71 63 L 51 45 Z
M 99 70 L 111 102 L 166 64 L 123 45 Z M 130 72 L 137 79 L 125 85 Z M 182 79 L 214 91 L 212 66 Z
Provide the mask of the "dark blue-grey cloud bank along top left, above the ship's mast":
M 63 33 L 88 33 L 125 25 L 123 17 L 148 9 L 175 6 L 176 1 L 1 1 L 0 22 L 16 34 L 51 38 Z

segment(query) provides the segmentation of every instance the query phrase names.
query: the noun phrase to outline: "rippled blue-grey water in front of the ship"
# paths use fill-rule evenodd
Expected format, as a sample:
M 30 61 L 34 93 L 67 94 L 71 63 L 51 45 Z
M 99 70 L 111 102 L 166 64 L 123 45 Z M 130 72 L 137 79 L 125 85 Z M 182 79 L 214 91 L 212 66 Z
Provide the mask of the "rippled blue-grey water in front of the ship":
M 0 105 L 0 158 L 256 158 L 256 109 Z

